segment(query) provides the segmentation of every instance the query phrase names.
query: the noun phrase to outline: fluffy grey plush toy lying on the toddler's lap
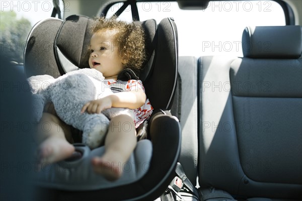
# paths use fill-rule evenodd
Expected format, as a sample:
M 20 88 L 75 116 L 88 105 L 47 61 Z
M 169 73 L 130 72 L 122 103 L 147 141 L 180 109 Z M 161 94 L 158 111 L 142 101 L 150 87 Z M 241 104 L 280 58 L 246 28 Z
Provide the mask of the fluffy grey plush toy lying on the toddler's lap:
M 84 144 L 91 149 L 100 146 L 108 130 L 108 118 L 127 110 L 111 108 L 101 114 L 81 114 L 87 102 L 113 93 L 104 79 L 101 72 L 90 68 L 71 71 L 58 78 L 50 75 L 28 78 L 34 96 L 36 121 L 41 119 L 45 104 L 52 102 L 63 122 L 83 131 Z

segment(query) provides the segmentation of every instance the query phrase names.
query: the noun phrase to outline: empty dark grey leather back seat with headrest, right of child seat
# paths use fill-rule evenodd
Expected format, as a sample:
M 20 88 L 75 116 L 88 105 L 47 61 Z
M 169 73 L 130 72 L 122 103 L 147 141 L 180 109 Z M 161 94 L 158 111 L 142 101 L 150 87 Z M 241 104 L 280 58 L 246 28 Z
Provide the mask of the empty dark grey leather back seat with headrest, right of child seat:
M 199 60 L 199 192 L 301 199 L 302 28 L 246 28 L 242 46 Z

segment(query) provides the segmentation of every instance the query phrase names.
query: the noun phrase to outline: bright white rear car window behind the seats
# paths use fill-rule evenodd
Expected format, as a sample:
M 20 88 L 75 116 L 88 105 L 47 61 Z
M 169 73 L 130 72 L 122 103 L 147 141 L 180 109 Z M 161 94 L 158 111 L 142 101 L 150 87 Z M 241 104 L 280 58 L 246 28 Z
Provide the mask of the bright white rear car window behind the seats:
M 122 5 L 114 5 L 107 16 L 114 15 Z M 214 1 L 205 10 L 181 10 L 177 2 L 140 2 L 137 8 L 140 21 L 155 19 L 159 23 L 163 18 L 174 18 L 180 56 L 243 56 L 245 27 L 285 25 L 284 11 L 274 1 Z M 120 19 L 132 21 L 130 7 Z

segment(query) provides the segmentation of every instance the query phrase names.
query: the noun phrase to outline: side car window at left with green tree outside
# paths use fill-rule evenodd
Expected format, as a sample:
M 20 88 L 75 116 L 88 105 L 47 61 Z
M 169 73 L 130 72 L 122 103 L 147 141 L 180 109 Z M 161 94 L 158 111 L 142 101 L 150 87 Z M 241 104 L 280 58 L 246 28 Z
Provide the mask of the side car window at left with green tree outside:
M 1 52 L 17 63 L 23 62 L 23 52 L 31 28 L 51 17 L 52 1 L 1 1 Z M 66 4 L 66 3 L 65 3 Z M 59 1 L 64 8 L 63 1 Z M 60 9 L 63 16 L 64 9 Z M 57 17 L 57 16 L 56 16 Z

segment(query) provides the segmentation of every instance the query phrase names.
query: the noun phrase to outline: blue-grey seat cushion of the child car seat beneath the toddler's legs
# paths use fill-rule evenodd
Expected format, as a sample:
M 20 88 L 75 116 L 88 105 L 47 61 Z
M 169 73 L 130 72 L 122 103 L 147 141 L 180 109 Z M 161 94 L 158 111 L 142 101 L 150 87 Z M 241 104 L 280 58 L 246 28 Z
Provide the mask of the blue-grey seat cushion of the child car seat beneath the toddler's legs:
M 129 160 L 118 167 L 123 171 L 122 176 L 116 181 L 108 181 L 96 174 L 91 165 L 93 157 L 102 156 L 104 146 L 91 151 L 87 146 L 78 144 L 75 149 L 83 153 L 80 159 L 42 164 L 41 171 L 36 175 L 36 183 L 43 187 L 80 191 L 129 184 L 139 180 L 148 171 L 152 156 L 152 143 L 149 140 L 139 141 Z

